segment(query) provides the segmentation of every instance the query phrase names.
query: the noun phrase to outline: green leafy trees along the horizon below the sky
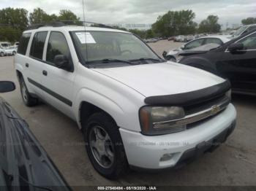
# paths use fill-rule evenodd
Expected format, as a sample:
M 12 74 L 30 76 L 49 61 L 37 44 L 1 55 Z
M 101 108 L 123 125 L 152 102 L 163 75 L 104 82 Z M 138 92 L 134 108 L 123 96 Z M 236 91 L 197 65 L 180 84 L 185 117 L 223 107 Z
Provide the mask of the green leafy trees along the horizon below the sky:
M 141 38 L 153 38 L 155 36 L 176 36 L 180 34 L 218 33 L 221 29 L 219 17 L 208 15 L 199 24 L 193 21 L 195 12 L 192 10 L 168 11 L 157 18 L 157 21 L 148 30 L 129 29 Z M 14 9 L 11 7 L 0 9 L 0 41 L 17 42 L 20 35 L 29 25 L 50 23 L 58 20 L 73 20 L 79 23 L 80 18 L 68 9 L 61 9 L 59 15 L 48 15 L 44 10 L 37 8 L 33 12 L 26 9 Z M 256 23 L 256 17 L 248 17 L 241 20 L 244 25 Z M 126 28 L 119 28 L 128 31 Z

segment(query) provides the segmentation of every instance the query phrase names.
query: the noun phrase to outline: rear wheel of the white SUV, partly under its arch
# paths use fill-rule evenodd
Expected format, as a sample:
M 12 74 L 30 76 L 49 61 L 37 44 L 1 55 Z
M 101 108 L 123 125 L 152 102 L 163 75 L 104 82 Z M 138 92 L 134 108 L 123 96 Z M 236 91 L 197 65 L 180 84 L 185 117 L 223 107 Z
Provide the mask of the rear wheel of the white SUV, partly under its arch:
M 26 87 L 26 83 L 25 83 L 23 77 L 20 77 L 20 93 L 21 93 L 21 97 L 23 99 L 23 102 L 26 106 L 36 106 L 38 104 L 38 99 L 33 98 L 29 94 L 29 90 Z

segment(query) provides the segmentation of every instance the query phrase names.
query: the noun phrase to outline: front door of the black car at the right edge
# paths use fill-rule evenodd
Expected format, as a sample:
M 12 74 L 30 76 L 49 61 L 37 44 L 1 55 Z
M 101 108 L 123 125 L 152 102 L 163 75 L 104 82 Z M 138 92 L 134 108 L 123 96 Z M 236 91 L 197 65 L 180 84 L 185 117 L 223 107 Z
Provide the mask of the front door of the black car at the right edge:
M 256 32 L 239 39 L 243 50 L 225 50 L 217 63 L 217 70 L 223 77 L 230 79 L 234 91 L 256 93 Z

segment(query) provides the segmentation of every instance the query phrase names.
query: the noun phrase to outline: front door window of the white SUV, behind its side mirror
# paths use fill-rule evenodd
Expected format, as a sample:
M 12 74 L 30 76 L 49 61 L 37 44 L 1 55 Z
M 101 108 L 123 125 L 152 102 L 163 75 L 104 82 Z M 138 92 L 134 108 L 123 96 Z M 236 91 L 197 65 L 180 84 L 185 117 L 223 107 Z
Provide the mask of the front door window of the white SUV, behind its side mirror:
M 66 55 L 69 62 L 72 62 L 67 40 L 60 32 L 51 32 L 46 52 L 46 61 L 54 65 L 56 55 Z

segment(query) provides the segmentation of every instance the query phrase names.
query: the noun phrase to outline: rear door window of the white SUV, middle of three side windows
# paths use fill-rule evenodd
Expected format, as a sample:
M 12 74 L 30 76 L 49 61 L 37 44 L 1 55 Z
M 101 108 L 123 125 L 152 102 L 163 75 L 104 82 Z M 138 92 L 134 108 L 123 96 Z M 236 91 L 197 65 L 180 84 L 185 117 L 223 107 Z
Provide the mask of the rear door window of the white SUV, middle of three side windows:
M 42 60 L 42 53 L 44 52 L 45 39 L 48 32 L 38 32 L 34 34 L 31 44 L 30 55 L 34 58 Z

